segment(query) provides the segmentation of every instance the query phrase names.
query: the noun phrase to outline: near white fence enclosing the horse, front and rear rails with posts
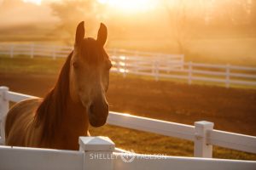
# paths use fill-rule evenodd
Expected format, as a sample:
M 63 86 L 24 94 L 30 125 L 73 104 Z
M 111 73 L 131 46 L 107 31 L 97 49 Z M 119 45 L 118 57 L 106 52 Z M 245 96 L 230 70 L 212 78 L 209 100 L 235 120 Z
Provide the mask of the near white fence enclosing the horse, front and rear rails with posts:
M 10 92 L 0 87 L 0 118 L 9 111 L 9 101 L 36 98 Z M 219 160 L 212 158 L 212 144 L 256 154 L 256 137 L 213 129 L 212 122 L 195 122 L 195 126 L 166 122 L 110 111 L 108 124 L 194 141 L 195 157 L 145 156 L 116 153 L 106 138 L 80 138 L 80 150 L 45 150 L 0 146 L 0 169 L 255 169 L 256 161 Z M 1 141 L 4 141 L 3 127 Z M 98 146 L 97 146 L 98 144 Z M 96 157 L 93 157 L 96 156 Z M 94 159 L 95 158 L 95 159 Z

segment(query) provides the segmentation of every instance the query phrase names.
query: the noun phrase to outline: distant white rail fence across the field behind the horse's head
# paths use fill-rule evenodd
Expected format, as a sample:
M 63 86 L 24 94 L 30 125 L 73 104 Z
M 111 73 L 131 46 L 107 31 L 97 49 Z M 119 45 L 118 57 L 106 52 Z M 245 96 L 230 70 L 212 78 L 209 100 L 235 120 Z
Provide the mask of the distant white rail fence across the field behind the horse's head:
M 73 48 L 37 44 L 0 44 L 0 54 L 67 57 Z M 192 82 L 212 82 L 226 88 L 241 85 L 256 88 L 256 68 L 238 65 L 212 65 L 184 62 L 182 54 L 154 54 L 124 49 L 108 49 L 113 61 L 113 72 Z

